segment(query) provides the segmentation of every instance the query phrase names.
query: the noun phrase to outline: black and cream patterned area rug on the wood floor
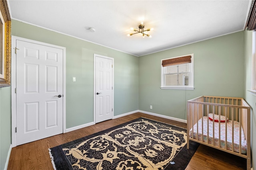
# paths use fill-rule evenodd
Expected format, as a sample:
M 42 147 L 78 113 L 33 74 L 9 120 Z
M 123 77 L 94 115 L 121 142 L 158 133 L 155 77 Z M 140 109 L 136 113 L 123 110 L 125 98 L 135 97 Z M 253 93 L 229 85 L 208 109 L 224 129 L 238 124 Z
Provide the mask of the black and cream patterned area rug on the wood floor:
M 198 147 L 189 154 L 186 140 L 186 129 L 138 118 L 51 148 L 49 153 L 56 170 L 184 169 Z M 175 165 L 179 161 L 171 161 L 182 148 L 188 160 Z

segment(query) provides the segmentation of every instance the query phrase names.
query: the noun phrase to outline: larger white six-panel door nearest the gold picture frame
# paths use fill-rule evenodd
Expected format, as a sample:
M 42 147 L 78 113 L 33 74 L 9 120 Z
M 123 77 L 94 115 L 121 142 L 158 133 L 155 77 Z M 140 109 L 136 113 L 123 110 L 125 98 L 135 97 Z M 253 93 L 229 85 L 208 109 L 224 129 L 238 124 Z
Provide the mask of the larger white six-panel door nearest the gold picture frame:
M 21 145 L 63 133 L 63 49 L 20 40 L 16 48 L 16 138 Z

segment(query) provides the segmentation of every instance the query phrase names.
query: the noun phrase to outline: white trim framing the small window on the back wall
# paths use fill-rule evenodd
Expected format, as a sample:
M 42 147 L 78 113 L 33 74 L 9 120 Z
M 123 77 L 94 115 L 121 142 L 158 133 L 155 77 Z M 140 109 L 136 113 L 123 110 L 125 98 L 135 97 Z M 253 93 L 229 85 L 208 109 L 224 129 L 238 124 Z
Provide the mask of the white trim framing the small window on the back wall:
M 194 90 L 194 54 L 189 54 L 191 55 L 191 75 L 190 75 L 190 79 L 191 79 L 191 85 L 190 86 L 171 86 L 171 87 L 167 87 L 164 86 L 164 67 L 162 66 L 162 61 L 163 60 L 168 60 L 168 59 L 162 59 L 161 60 L 161 89 L 175 89 L 175 90 Z M 185 57 L 188 55 L 182 55 L 179 57 Z M 174 59 L 174 58 L 179 58 L 179 57 L 172 57 L 169 59 Z

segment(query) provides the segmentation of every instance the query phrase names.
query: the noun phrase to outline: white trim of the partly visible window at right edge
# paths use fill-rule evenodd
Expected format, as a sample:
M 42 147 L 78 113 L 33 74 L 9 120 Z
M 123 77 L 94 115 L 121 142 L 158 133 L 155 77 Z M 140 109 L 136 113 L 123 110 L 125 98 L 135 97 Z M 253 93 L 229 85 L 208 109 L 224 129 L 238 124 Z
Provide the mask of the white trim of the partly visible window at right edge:
M 256 31 L 252 31 L 252 79 L 251 89 L 248 91 L 256 96 Z

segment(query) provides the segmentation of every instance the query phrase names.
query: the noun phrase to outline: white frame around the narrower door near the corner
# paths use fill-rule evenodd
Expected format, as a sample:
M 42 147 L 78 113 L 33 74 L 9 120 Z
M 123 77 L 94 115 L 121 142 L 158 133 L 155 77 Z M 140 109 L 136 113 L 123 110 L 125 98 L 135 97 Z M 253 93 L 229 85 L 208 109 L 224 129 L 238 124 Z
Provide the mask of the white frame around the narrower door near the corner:
M 111 57 L 106 57 L 104 55 L 98 55 L 98 54 L 94 54 L 94 58 L 93 58 L 93 123 L 96 124 L 96 90 L 95 90 L 95 86 L 96 86 L 96 62 L 95 59 L 96 57 L 102 57 L 104 59 L 110 59 L 112 60 L 112 119 L 114 117 L 114 58 Z

